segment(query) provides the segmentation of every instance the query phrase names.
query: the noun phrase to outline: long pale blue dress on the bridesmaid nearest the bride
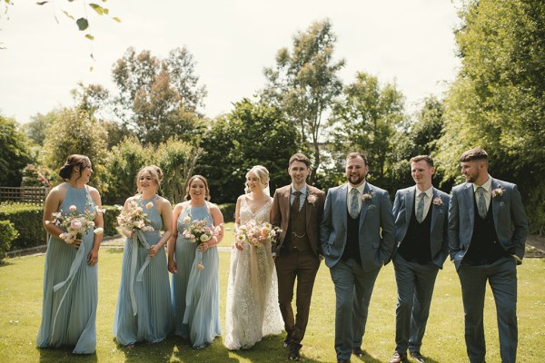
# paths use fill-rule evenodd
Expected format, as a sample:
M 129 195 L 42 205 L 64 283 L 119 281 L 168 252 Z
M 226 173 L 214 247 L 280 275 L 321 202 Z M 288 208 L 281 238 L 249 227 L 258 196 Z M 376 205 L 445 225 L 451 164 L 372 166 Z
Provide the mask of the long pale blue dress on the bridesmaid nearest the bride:
M 176 225 L 178 238 L 174 260 L 178 271 L 173 275 L 174 334 L 189 338 L 193 348 L 203 348 L 222 334 L 220 325 L 220 281 L 218 275 L 219 256 L 216 246 L 201 252 L 197 243 L 183 238 L 183 230 L 189 223 L 183 219 L 190 216 L 192 221 L 206 219 L 213 225 L 213 219 L 206 205 L 192 207 L 184 205 Z M 203 270 L 197 265 L 202 263 Z

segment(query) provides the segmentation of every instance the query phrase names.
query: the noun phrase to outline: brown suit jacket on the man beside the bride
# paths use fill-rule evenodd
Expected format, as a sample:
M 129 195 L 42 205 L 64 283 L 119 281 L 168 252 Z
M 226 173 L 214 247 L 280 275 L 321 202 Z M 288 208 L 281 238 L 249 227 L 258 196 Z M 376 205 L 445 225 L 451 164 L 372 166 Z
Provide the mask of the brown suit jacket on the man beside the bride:
M 291 193 L 292 185 L 290 184 L 274 191 L 274 197 L 272 198 L 271 224 L 282 229 L 280 236 L 272 243 L 272 252 L 276 252 L 276 254 L 280 254 L 280 249 L 286 238 L 290 223 Z M 316 196 L 316 201 L 313 203 L 309 201 L 310 195 Z M 316 256 L 322 254 L 322 249 L 320 248 L 320 221 L 322 221 L 324 200 L 325 193 L 323 191 L 307 184 L 307 196 L 302 208 L 305 208 L 306 212 L 306 233 L 309 237 L 312 251 Z

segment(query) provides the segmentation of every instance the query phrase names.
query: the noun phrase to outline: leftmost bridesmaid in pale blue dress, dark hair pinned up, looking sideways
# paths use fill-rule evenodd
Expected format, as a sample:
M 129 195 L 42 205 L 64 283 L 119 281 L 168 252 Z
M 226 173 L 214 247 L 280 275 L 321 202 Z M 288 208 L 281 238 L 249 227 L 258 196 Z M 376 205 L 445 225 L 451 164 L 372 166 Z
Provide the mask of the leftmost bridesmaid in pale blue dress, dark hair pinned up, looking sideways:
M 38 331 L 39 348 L 74 347 L 74 354 L 93 354 L 96 349 L 96 304 L 98 301 L 98 249 L 103 216 L 100 195 L 87 186 L 93 173 L 89 158 L 70 155 L 59 171 L 64 183 L 45 199 L 44 226 L 49 233 L 45 253 L 44 301 Z M 53 213 L 96 213 L 94 227 L 81 240 L 68 244 L 60 238 L 64 229 L 50 223 Z M 96 210 L 98 207 L 98 212 Z M 73 208 L 73 207 L 72 207 Z M 96 228 L 96 233 L 94 233 Z

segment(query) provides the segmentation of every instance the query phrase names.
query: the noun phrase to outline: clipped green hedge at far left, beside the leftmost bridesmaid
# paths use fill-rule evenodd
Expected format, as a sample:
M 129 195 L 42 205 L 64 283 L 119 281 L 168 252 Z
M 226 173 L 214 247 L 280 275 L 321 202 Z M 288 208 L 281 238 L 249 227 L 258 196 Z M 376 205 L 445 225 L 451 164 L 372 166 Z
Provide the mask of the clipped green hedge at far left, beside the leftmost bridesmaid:
M 42 206 L 36 204 L 2 204 L 0 221 L 11 221 L 19 236 L 10 250 L 22 250 L 45 244 L 45 230 L 42 223 Z

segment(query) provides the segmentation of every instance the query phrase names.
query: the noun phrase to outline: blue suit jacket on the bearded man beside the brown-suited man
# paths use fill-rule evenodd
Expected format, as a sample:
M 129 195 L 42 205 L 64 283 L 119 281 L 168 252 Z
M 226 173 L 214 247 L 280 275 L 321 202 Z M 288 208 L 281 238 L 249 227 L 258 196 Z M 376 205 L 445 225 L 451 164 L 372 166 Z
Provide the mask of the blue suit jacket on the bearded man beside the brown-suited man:
M 362 201 L 360 211 L 360 255 L 365 271 L 381 268 L 390 261 L 395 237 L 388 191 L 366 183 L 364 193 L 371 200 Z M 348 219 L 348 184 L 330 189 L 325 198 L 320 237 L 325 264 L 332 268 L 341 260 L 346 246 Z

